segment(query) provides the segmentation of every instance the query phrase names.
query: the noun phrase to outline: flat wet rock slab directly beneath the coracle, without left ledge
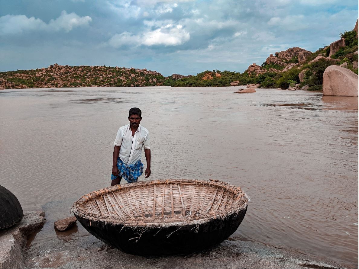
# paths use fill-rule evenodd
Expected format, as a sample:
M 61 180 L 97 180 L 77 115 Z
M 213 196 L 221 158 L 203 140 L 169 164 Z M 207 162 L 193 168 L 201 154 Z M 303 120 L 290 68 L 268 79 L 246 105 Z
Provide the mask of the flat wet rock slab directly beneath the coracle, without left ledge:
M 80 230 L 80 229 L 79 229 Z M 340 264 L 259 242 L 225 240 L 191 255 L 136 256 L 108 246 L 77 227 L 57 233 L 46 244 L 30 246 L 28 268 L 342 268 Z M 76 238 L 74 238 L 76 237 Z

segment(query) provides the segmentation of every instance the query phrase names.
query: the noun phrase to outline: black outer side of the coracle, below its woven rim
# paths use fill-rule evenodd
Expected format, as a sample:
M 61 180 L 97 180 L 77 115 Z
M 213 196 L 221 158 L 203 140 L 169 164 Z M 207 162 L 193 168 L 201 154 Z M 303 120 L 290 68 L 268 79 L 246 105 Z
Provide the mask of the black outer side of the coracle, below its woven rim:
M 200 225 L 184 225 L 181 228 L 151 227 L 144 231 L 140 238 L 138 237 L 141 231 L 136 228 L 103 221 L 90 223 L 86 218 L 76 218 L 93 236 L 123 252 L 136 255 L 171 255 L 189 254 L 220 244 L 237 230 L 246 211 L 247 208 L 223 219 L 217 218 Z M 168 236 L 171 232 L 173 234 Z

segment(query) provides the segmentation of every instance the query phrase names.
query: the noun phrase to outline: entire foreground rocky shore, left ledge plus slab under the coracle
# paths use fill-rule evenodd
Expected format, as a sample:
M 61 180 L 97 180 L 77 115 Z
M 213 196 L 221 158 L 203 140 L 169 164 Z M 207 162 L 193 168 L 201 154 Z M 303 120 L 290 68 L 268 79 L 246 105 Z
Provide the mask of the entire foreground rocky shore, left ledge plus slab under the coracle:
M 0 268 L 344 268 L 281 246 L 229 238 L 190 255 L 136 256 L 108 246 L 89 233 L 74 238 L 73 227 L 53 240 L 26 247 L 26 237 L 41 228 L 42 211 L 25 212 L 17 225 L 0 233 Z

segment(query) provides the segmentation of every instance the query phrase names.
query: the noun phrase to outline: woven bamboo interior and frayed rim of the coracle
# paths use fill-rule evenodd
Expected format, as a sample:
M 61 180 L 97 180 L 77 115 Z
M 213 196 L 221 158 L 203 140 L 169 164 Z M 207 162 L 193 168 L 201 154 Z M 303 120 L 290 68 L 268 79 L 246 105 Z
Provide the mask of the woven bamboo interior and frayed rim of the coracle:
M 219 180 L 166 179 L 116 185 L 83 195 L 72 211 L 130 225 L 204 222 L 247 207 L 238 187 Z

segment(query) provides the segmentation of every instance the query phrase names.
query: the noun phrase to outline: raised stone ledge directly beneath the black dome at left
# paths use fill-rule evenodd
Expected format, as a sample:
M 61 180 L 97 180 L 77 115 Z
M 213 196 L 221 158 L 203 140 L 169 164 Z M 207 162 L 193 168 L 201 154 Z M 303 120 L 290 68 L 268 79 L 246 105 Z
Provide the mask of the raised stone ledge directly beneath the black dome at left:
M 43 211 L 24 212 L 19 223 L 0 231 L 0 268 L 26 268 L 23 248 L 27 236 L 44 225 L 44 216 Z

